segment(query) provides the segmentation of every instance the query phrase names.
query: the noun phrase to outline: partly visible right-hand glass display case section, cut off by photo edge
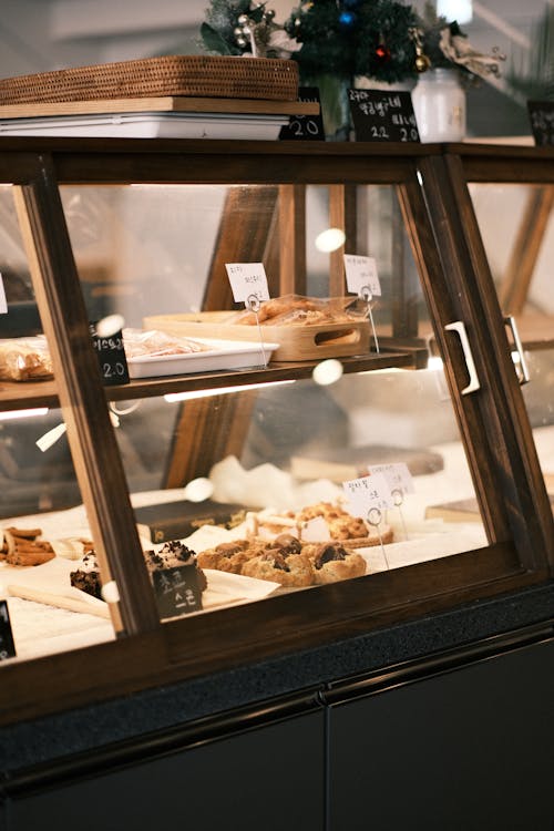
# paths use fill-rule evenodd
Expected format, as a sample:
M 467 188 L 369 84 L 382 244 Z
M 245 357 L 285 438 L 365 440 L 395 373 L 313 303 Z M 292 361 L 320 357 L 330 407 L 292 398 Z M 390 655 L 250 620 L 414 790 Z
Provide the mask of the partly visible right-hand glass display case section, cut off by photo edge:
M 485 157 L 486 170 L 483 170 L 481 154 L 462 154 L 461 171 L 468 182 L 490 279 L 509 326 L 512 358 L 551 494 L 554 488 L 552 155 L 548 148 L 502 147 L 494 158 L 489 160 L 489 154 Z

